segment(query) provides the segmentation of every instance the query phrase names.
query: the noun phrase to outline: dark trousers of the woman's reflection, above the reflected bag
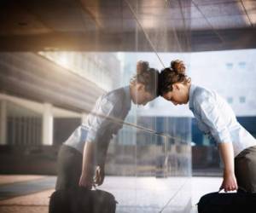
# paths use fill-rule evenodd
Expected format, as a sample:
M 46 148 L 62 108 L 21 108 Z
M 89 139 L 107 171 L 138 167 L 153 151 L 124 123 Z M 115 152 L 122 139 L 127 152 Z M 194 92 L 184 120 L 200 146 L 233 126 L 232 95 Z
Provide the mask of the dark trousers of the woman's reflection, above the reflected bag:
M 57 159 L 55 189 L 78 187 L 82 172 L 83 155 L 73 147 L 62 145 Z

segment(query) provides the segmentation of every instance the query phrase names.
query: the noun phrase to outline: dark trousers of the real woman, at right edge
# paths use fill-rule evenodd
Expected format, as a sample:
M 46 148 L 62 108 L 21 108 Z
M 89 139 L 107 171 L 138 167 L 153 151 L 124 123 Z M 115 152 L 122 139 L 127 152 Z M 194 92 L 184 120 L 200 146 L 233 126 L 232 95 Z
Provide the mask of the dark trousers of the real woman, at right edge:
M 256 146 L 248 147 L 236 156 L 235 174 L 238 187 L 256 193 Z

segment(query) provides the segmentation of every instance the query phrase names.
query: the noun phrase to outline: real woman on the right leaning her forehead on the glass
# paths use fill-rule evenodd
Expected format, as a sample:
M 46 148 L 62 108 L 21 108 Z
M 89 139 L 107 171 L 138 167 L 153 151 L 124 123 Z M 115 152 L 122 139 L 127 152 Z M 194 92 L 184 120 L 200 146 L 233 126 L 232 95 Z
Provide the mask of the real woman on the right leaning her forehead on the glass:
M 228 103 L 215 92 L 191 84 L 181 60 L 160 72 L 160 95 L 174 105 L 189 102 L 199 128 L 218 143 L 224 161 L 220 188 L 256 193 L 256 140 L 236 121 Z

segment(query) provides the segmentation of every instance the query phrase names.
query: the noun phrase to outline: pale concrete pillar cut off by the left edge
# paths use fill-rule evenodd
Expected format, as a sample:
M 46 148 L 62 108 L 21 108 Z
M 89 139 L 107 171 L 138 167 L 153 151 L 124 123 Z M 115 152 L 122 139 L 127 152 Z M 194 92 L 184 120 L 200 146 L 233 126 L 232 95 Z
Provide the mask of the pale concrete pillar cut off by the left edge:
M 0 145 L 7 144 L 7 101 L 0 101 Z

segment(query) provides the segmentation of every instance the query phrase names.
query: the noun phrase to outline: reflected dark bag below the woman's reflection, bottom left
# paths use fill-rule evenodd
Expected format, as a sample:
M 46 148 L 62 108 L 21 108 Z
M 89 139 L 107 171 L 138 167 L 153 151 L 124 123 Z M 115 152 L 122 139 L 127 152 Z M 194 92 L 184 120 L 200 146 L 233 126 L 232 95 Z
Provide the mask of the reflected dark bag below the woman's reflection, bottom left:
M 49 213 L 114 213 L 113 194 L 75 187 L 56 190 L 49 198 Z

